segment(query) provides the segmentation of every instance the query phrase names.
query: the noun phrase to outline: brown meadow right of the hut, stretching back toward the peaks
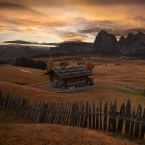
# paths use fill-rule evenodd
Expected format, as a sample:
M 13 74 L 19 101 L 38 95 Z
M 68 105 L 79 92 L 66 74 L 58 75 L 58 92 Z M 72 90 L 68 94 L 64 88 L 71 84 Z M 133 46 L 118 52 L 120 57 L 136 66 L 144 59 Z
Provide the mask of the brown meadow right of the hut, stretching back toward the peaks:
M 37 58 L 37 60 L 47 61 L 48 58 Z M 77 65 L 77 62 L 84 62 L 85 64 L 90 62 L 95 64 L 95 68 L 93 69 L 93 73 L 95 74 L 93 75 L 94 79 L 101 81 L 115 81 L 145 87 L 144 60 L 132 60 L 125 57 L 83 57 L 81 60 L 65 60 L 65 56 L 59 57 L 58 60 L 69 62 L 70 65 Z M 60 61 L 56 61 L 55 63 L 59 64 L 59 62 Z

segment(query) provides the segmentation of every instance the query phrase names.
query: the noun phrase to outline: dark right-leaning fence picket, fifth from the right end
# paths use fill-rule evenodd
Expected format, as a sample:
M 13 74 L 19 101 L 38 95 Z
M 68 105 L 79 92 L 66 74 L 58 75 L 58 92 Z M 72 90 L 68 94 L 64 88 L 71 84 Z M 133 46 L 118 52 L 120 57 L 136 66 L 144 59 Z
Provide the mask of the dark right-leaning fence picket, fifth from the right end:
M 125 113 L 125 104 L 123 103 L 121 108 L 120 108 L 120 114 L 119 114 L 119 121 L 118 121 L 118 132 L 122 132 L 122 127 L 123 127 L 123 116 Z

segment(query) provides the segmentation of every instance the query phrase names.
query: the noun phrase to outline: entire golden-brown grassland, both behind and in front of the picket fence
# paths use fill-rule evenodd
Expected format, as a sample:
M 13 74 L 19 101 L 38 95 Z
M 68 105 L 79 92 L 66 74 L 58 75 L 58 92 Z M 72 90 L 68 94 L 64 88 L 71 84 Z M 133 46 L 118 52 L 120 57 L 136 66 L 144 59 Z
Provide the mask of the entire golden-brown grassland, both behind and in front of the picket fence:
M 99 103 L 117 100 L 118 110 L 123 102 L 130 99 L 132 109 L 137 108 L 138 104 L 145 107 L 145 96 L 142 93 L 121 88 L 106 82 L 119 82 L 140 86 L 145 88 L 145 61 L 127 60 L 118 58 L 90 58 L 79 61 L 91 62 L 95 64 L 92 76 L 95 81 L 93 88 L 79 90 L 68 93 L 55 93 L 42 90 L 37 86 L 49 83 L 49 78 L 43 76 L 44 70 L 14 67 L 11 65 L 0 65 L 0 88 L 12 94 L 18 94 L 30 100 L 57 100 L 57 101 L 89 101 Z M 68 61 L 70 65 L 76 65 L 78 61 Z M 58 62 L 56 62 L 58 63 Z M 115 65 L 121 64 L 121 65 Z M 27 70 L 29 72 L 24 72 Z M 30 73 L 31 72 L 31 73 Z M 26 83 L 19 85 L 16 83 Z M 15 114 L 9 115 L 8 111 L 0 108 L 0 145 L 10 144 L 86 144 L 86 145 L 130 145 L 138 144 L 130 140 L 107 136 L 107 133 L 96 132 L 88 129 L 65 127 L 58 125 L 30 124 L 22 120 Z M 13 124 L 11 124 L 13 123 Z M 21 123 L 21 124 L 19 124 Z M 24 124 L 25 123 L 25 124 Z M 29 123 L 29 124 L 28 124 Z M 14 130 L 15 128 L 15 130 Z M 17 132 L 19 130 L 19 132 Z M 59 131 L 57 131 L 59 130 Z M 107 134 L 107 135 L 106 135 Z M 29 138 L 31 135 L 30 139 Z M 38 138 L 39 136 L 39 138 Z M 140 142 L 139 144 L 144 144 Z

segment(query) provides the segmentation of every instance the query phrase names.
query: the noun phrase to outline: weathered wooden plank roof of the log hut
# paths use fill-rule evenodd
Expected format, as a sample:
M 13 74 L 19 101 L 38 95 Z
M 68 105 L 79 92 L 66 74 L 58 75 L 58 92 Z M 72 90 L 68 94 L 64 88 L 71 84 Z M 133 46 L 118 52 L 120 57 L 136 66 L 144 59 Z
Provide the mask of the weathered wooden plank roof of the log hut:
M 92 73 L 82 66 L 72 66 L 72 67 L 53 67 L 50 71 L 47 71 L 44 75 L 49 75 L 50 72 L 54 71 L 63 79 L 89 76 Z

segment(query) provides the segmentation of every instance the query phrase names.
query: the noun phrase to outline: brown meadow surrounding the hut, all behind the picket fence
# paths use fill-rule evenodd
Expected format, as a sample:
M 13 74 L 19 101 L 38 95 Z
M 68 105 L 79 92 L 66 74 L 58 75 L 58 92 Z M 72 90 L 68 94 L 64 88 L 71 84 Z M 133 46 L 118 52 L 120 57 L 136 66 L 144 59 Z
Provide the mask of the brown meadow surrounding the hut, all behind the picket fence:
M 87 60 L 85 60 L 87 61 Z M 0 88 L 12 94 L 18 94 L 31 100 L 57 100 L 57 101 L 89 101 L 92 103 L 98 102 L 100 99 L 105 101 L 116 99 L 118 104 L 131 100 L 132 107 L 137 108 L 138 104 L 145 106 L 145 97 L 141 93 L 133 92 L 115 85 L 106 84 L 104 81 L 117 81 L 126 84 L 145 84 L 145 68 L 142 64 L 144 61 L 139 60 L 121 60 L 115 58 L 99 58 L 96 60 L 89 60 L 96 64 L 110 64 L 107 66 L 97 65 L 93 69 L 95 73 L 95 87 L 85 90 L 79 90 L 69 93 L 54 93 L 50 91 L 35 88 L 35 85 L 41 83 L 48 83 L 46 76 L 41 76 L 45 71 L 32 68 L 22 68 L 32 73 L 21 72 L 19 67 L 0 66 Z M 116 62 L 115 62 L 116 61 Z M 74 63 L 75 61 L 72 61 Z M 77 62 L 77 61 L 76 61 Z M 121 66 L 113 65 L 115 63 L 122 64 Z M 137 70 L 137 71 L 135 71 Z M 139 74 L 139 75 L 137 75 Z M 127 82 L 125 82 L 128 80 Z M 22 86 L 14 84 L 13 82 L 25 82 L 33 84 L 31 86 Z

